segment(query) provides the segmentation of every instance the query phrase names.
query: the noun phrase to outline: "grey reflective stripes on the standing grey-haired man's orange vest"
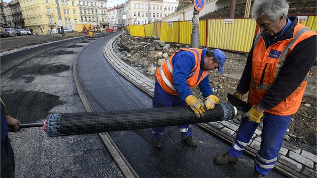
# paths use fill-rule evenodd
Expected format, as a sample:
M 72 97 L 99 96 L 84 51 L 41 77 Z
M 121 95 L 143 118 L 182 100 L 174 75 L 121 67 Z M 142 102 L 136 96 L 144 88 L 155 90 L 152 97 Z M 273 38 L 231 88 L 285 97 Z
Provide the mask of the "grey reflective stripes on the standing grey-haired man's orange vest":
M 286 60 L 286 55 L 288 54 L 288 52 L 290 51 L 291 47 L 294 45 L 295 41 L 300 37 L 300 35 L 302 35 L 304 32 L 306 32 L 307 30 L 309 30 L 307 27 L 305 28 L 301 28 L 297 31 L 297 33 L 294 35 L 294 39 L 290 40 L 288 45 L 284 48 L 284 50 L 282 51 L 281 53 L 281 56 L 280 56 L 280 60 L 278 62 L 278 66 L 277 66 L 277 69 L 276 69 L 276 72 L 275 72 L 275 77 L 274 77 L 274 81 L 276 79 L 276 77 L 278 76 L 278 74 L 280 73 L 282 67 L 284 66 L 284 63 L 285 63 L 285 60 Z M 260 39 L 260 34 L 259 33 L 255 39 L 255 45 L 253 47 L 253 50 L 255 49 L 255 46 L 256 44 L 258 44 L 259 42 L 259 39 Z M 307 76 L 305 77 L 304 81 L 307 80 Z M 253 78 L 251 78 L 251 85 L 256 88 L 256 90 L 269 90 L 272 86 L 273 86 L 273 83 L 271 84 L 256 84 L 256 82 L 253 80 Z

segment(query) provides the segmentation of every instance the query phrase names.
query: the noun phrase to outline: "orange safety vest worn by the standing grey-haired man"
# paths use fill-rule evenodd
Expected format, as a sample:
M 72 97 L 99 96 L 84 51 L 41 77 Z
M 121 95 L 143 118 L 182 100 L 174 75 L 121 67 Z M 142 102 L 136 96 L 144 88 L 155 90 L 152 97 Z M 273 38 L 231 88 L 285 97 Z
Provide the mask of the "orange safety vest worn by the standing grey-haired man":
M 258 105 L 268 93 L 283 68 L 287 56 L 296 44 L 315 35 L 314 32 L 299 23 L 295 26 L 293 34 L 293 38 L 278 41 L 267 49 L 265 49 L 265 42 L 260 33 L 255 38 L 253 51 L 256 52 L 252 57 L 251 84 L 248 95 L 248 102 L 251 105 Z M 260 83 L 262 76 L 264 76 L 263 82 Z M 266 113 L 279 116 L 295 114 L 299 109 L 306 85 L 307 79 L 305 78 L 290 96 Z

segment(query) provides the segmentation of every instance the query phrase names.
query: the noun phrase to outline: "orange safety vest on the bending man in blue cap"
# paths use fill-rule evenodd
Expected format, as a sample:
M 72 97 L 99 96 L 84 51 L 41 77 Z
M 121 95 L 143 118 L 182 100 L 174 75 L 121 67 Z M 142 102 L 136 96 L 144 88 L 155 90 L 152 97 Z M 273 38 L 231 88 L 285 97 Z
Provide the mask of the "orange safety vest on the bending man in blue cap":
M 189 87 L 195 87 L 198 86 L 200 81 L 204 79 L 206 76 L 209 74 L 209 70 L 204 70 L 201 74 L 200 79 L 198 80 L 199 77 L 199 69 L 200 69 L 200 63 L 201 63 L 201 53 L 203 49 L 198 49 L 198 48 L 183 48 L 180 49 L 183 51 L 189 51 L 194 53 L 195 56 L 195 66 L 191 70 L 191 73 L 196 71 L 191 77 L 189 77 L 186 81 L 189 85 Z M 173 57 L 175 56 L 176 53 L 178 53 L 180 50 L 175 52 L 167 61 L 163 63 L 163 65 L 157 69 L 156 71 L 156 79 L 162 86 L 163 90 L 171 95 L 178 95 L 176 88 L 174 87 L 173 84 L 173 70 L 174 66 L 172 64 Z

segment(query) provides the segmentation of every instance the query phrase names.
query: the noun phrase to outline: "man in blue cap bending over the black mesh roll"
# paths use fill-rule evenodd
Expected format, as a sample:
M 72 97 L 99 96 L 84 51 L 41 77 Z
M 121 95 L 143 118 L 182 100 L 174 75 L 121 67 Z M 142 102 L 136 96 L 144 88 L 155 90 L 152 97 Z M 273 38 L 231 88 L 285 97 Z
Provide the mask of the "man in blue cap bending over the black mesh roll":
M 218 69 L 223 74 L 224 53 L 215 49 L 182 48 L 175 52 L 155 74 L 153 108 L 189 106 L 196 117 L 203 117 L 205 110 L 213 109 L 219 99 L 213 94 L 209 84 L 210 70 Z M 204 97 L 199 100 L 190 88 L 199 86 Z M 196 146 L 189 124 L 178 126 L 188 144 Z M 162 147 L 165 127 L 152 128 L 153 145 Z

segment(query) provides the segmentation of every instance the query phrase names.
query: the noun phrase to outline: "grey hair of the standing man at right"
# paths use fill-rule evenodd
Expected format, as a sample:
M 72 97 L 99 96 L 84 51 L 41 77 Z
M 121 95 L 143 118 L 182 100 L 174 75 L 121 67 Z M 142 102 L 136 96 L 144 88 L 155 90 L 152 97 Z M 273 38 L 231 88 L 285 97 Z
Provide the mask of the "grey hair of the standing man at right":
M 286 0 L 255 0 L 251 13 L 255 20 L 266 15 L 269 20 L 276 22 L 283 15 L 284 19 L 287 18 L 288 3 Z

